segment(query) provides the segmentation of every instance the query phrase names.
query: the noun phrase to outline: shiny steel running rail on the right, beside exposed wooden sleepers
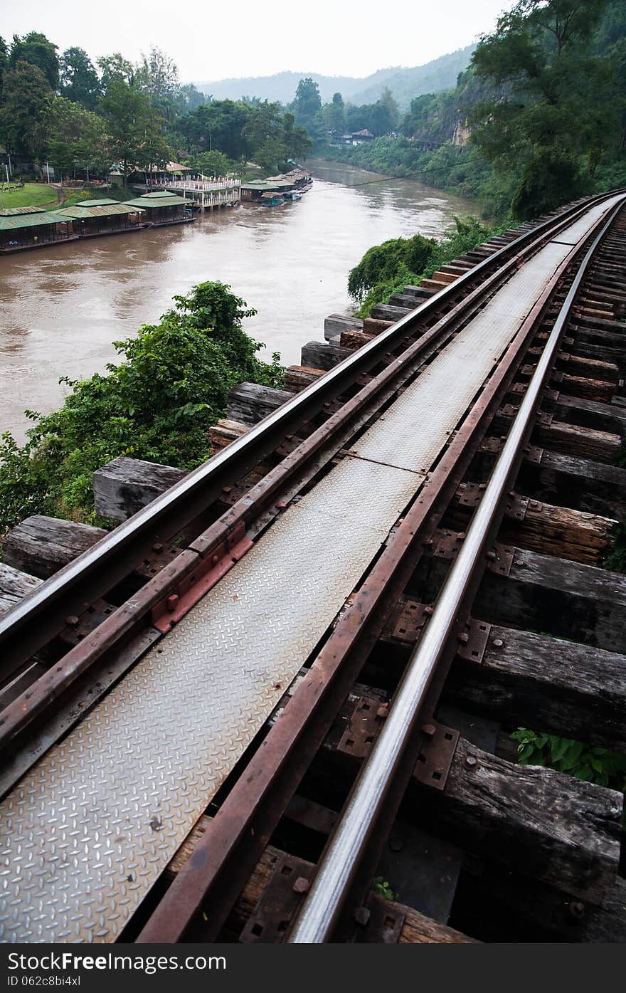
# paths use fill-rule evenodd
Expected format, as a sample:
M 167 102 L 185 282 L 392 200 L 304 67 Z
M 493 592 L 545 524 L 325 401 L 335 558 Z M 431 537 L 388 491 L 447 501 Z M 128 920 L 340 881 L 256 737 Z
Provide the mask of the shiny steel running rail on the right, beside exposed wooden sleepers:
M 456 619 L 472 577 L 484 557 L 493 518 L 510 489 L 512 474 L 516 470 L 520 451 L 526 444 L 535 408 L 556 359 L 563 328 L 578 289 L 599 243 L 623 204 L 624 201 L 620 202 L 611 212 L 580 264 L 537 369 L 528 384 L 502 453 L 494 466 L 484 496 L 439 593 L 431 621 L 409 659 L 389 716 L 348 797 L 341 819 L 322 856 L 313 886 L 287 938 L 288 943 L 322 942 L 330 936 L 337 921 L 359 860 L 415 727 L 439 659 L 454 635 Z

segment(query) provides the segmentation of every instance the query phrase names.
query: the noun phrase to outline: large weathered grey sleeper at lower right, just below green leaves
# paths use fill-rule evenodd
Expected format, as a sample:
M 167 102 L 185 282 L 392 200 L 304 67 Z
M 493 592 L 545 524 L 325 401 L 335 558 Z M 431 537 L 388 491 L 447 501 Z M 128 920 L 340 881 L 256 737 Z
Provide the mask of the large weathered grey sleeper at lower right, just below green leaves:
M 469 760 L 469 762 L 468 762 Z M 623 794 L 518 766 L 460 738 L 442 790 L 415 785 L 424 829 L 599 904 L 613 886 Z

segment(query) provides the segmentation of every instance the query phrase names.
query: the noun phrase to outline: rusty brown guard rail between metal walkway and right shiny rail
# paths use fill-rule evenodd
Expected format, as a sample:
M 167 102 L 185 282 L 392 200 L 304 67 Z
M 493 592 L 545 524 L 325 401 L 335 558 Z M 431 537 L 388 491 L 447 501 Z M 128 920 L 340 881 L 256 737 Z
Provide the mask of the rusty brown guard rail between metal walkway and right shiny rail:
M 602 223 L 603 217 L 584 238 L 582 248 L 572 246 L 571 253 L 528 314 L 433 470 L 428 486 L 406 512 L 393 542 L 373 566 L 351 606 L 313 659 L 308 675 L 281 720 L 272 726 L 245 773 L 234 783 L 198 841 L 193 858 L 143 928 L 137 939 L 140 942 L 218 940 L 220 927 L 238 893 L 321 747 L 334 716 L 464 478 L 480 439 L 535 337 L 537 322 L 572 258 L 580 259 L 584 255 L 584 246 L 592 241 Z M 359 395 L 349 402 L 356 401 Z M 200 917 L 203 908 L 209 909 L 208 922 Z

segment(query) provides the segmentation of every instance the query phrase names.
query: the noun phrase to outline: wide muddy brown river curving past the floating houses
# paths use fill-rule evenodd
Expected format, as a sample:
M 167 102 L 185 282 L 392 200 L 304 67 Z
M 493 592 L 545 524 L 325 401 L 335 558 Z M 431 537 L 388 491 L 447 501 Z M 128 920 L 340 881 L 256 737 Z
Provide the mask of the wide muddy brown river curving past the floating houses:
M 347 312 L 349 269 L 371 245 L 439 236 L 472 206 L 412 180 L 311 163 L 313 190 L 296 203 L 198 214 L 192 224 L 71 242 L 0 258 L 0 432 L 19 442 L 25 409 L 63 401 L 79 379 L 116 360 L 112 342 L 156 322 L 175 294 L 203 280 L 230 284 L 258 315 L 261 356 L 300 361 L 323 338 L 326 314 Z

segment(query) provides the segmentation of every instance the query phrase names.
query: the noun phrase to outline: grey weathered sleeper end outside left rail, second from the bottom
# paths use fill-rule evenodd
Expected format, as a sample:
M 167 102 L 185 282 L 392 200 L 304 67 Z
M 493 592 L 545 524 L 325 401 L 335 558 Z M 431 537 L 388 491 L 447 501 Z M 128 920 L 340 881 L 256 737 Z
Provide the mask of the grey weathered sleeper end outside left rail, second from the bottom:
M 9 531 L 2 554 L 7 565 L 48 579 L 106 533 L 101 527 L 37 513 Z

